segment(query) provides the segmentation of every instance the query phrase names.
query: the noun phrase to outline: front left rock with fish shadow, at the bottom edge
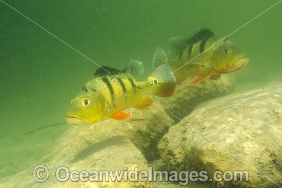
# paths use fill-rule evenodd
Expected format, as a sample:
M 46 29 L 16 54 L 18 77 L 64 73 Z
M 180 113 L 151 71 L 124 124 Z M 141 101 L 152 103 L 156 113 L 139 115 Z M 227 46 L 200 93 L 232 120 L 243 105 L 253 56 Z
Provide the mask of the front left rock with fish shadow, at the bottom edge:
M 124 179 L 120 182 L 112 182 L 109 178 L 109 182 L 106 182 L 106 175 L 104 175 L 103 182 L 91 182 L 91 181 L 78 181 L 72 182 L 70 180 L 66 182 L 60 182 L 55 177 L 55 172 L 59 166 L 65 166 L 72 171 L 124 171 L 127 167 L 127 172 L 134 171 L 135 167 L 138 167 L 138 171 L 147 171 L 148 164 L 142 153 L 134 146 L 134 144 L 123 136 L 111 137 L 101 142 L 90 144 L 88 147 L 80 148 L 79 151 L 73 152 L 68 156 L 60 156 L 54 161 L 48 163 L 43 162 L 49 168 L 50 177 L 44 183 L 36 182 L 32 177 L 32 169 L 25 174 L 17 177 L 14 181 L 5 185 L 5 187 L 117 187 L 117 188 L 149 188 L 151 182 L 125 182 Z M 61 177 L 64 178 L 66 173 L 61 172 Z M 74 176 L 75 178 L 77 176 Z M 110 177 L 110 176 L 109 176 Z M 134 177 L 134 176 L 132 176 Z M 7 179 L 9 180 L 9 178 Z M 5 182 L 5 181 L 4 181 Z M 1 186 L 1 184 L 0 184 Z

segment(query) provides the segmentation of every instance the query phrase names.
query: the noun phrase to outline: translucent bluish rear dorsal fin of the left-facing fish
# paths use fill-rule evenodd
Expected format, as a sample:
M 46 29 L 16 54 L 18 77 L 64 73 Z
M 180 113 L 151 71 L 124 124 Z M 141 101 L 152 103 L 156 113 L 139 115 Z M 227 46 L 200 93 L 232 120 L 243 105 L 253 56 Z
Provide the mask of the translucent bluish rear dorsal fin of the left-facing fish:
M 137 60 L 132 60 L 122 71 L 123 73 L 130 74 L 134 78 L 138 79 L 144 72 L 142 62 Z

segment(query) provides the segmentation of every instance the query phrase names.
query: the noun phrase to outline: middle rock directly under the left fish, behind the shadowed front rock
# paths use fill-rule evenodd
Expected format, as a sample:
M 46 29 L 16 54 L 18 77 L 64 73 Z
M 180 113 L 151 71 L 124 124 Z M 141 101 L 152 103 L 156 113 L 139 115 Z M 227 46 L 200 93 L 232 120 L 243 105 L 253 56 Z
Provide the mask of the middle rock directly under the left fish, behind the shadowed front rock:
M 49 149 L 52 152 L 58 146 L 71 140 L 78 134 L 77 138 L 61 148 L 52 158 L 56 156 L 69 155 L 77 149 L 88 147 L 89 144 L 97 143 L 113 136 L 127 136 L 129 140 L 143 153 L 147 160 L 158 156 L 157 143 L 168 132 L 173 120 L 166 115 L 166 112 L 157 103 L 153 103 L 144 110 L 130 108 L 131 118 L 123 121 L 105 120 L 93 126 L 72 126 L 58 139 L 54 147 Z

